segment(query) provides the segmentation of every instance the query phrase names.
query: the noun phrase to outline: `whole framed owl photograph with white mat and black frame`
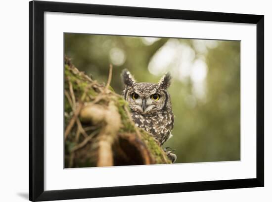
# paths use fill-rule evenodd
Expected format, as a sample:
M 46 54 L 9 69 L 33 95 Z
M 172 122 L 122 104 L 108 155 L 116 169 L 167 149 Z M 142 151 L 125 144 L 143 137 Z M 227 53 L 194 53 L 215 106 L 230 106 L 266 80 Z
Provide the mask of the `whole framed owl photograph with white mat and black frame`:
M 264 16 L 29 2 L 29 200 L 264 186 Z

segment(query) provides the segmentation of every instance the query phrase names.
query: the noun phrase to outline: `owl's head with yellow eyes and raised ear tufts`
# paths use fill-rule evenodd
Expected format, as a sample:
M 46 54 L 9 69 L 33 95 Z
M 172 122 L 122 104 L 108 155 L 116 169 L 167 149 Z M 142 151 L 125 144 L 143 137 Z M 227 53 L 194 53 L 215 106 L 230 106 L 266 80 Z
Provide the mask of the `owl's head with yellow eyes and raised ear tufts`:
M 169 73 L 163 75 L 158 83 L 138 83 L 127 69 L 122 71 L 121 77 L 125 86 L 124 98 L 131 110 L 152 114 L 171 109 L 170 95 L 167 92 L 171 80 Z

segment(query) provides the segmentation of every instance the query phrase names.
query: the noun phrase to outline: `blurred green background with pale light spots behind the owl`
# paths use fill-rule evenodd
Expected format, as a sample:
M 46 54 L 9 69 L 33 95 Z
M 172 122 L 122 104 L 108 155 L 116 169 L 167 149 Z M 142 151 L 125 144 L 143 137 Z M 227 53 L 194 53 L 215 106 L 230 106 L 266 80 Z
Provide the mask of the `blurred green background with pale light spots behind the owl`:
M 121 94 L 120 74 L 158 82 L 167 71 L 175 125 L 163 147 L 176 163 L 240 160 L 240 41 L 64 34 L 65 54 L 79 70 Z

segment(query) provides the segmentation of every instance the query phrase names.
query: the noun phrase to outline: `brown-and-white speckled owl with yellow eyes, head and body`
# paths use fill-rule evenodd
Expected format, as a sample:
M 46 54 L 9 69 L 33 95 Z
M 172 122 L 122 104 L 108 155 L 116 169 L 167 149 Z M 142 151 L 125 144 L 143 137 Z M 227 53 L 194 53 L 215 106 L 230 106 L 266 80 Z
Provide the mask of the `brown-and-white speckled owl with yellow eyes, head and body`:
M 131 108 L 132 118 L 137 127 L 144 129 L 163 145 L 172 135 L 174 114 L 170 95 L 171 76 L 165 74 L 158 83 L 138 83 L 133 75 L 124 69 L 124 98 Z

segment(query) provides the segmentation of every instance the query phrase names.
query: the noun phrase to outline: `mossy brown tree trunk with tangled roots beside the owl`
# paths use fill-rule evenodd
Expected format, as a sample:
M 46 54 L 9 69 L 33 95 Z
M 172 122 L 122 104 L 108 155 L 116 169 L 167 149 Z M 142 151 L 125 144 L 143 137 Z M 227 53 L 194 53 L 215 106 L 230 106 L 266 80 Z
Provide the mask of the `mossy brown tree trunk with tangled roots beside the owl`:
M 130 108 L 109 86 L 65 57 L 65 168 L 171 163 L 157 141 L 135 126 Z

